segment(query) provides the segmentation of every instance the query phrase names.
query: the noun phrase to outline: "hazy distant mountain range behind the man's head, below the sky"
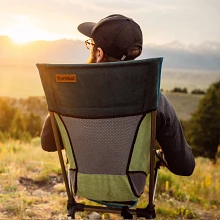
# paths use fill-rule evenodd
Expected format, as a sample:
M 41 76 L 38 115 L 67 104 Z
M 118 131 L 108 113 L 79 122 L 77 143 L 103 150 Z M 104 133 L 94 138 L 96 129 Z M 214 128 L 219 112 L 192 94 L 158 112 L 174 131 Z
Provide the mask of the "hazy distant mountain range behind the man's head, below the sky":
M 0 62 L 84 63 L 88 51 L 80 40 L 33 41 L 16 44 L 0 36 Z M 220 42 L 184 45 L 178 41 L 143 46 L 140 58 L 164 57 L 164 68 L 220 71 Z

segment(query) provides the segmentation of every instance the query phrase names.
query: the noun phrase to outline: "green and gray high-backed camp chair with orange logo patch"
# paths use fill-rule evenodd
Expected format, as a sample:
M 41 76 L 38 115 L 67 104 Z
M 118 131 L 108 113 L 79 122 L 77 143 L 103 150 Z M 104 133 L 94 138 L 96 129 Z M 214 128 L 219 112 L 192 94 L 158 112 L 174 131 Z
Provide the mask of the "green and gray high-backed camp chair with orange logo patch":
M 37 64 L 68 195 L 77 211 L 155 218 L 156 110 L 162 58 Z M 69 161 L 68 175 L 61 146 Z M 149 177 L 149 204 L 135 205 Z M 74 195 L 104 204 L 77 203 Z

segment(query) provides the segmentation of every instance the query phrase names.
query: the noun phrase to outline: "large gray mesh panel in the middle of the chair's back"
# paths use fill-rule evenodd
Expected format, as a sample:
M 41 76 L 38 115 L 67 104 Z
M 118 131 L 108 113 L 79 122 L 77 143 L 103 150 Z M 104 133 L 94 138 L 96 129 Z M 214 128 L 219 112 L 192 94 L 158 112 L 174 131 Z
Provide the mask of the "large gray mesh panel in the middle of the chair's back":
M 126 174 L 130 149 L 142 115 L 109 119 L 61 117 L 72 142 L 79 172 Z

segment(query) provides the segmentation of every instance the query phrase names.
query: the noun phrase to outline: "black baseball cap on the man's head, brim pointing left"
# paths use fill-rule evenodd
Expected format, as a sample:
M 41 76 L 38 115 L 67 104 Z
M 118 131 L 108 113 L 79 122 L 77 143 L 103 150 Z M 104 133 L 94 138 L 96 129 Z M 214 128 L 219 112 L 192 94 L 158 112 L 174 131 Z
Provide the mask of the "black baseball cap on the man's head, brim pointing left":
M 92 38 L 104 53 L 118 60 L 126 60 L 127 51 L 133 46 L 142 48 L 140 26 L 131 18 L 120 14 L 109 15 L 98 23 L 84 22 L 79 32 Z

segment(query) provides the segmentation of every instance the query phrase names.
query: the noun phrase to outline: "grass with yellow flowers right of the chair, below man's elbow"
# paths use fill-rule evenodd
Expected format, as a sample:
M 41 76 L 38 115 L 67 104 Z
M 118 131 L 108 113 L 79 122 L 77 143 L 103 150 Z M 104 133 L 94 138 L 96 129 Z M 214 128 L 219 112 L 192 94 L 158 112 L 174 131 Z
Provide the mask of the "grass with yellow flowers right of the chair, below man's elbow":
M 200 210 L 219 217 L 214 214 L 220 210 L 219 162 L 198 157 L 194 173 L 187 178 L 162 167 L 155 197 L 157 219 L 200 219 Z

